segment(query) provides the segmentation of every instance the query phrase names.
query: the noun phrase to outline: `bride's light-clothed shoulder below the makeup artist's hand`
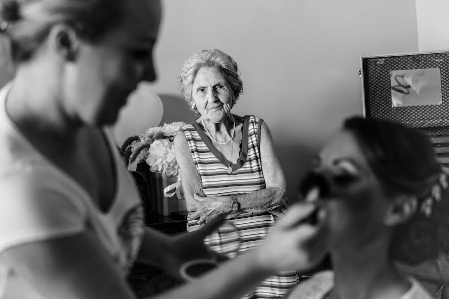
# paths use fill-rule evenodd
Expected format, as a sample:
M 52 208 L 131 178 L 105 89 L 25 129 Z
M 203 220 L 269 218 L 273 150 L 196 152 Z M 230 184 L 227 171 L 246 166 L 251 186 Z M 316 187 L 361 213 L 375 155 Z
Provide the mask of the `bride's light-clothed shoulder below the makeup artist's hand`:
M 322 299 L 334 286 L 334 272 L 321 271 L 293 288 L 287 299 Z

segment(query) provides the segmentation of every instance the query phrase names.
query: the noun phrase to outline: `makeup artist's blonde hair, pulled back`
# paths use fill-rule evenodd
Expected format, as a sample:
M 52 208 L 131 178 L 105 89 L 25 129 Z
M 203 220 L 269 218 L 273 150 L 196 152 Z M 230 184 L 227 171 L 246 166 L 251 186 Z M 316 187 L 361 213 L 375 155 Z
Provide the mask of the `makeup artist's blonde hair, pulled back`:
M 124 0 L 0 0 L 0 29 L 14 61 L 29 59 L 56 23 L 95 40 L 119 23 Z

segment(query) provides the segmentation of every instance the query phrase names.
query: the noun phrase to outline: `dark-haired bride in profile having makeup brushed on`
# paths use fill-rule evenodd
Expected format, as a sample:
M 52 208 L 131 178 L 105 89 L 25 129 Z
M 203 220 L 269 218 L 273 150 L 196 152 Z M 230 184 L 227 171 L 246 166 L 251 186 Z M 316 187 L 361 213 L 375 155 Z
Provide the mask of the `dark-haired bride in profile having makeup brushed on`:
M 315 203 L 329 229 L 333 271 L 316 274 L 288 298 L 430 299 L 395 263 L 416 265 L 449 250 L 449 202 L 442 198 L 448 170 L 428 138 L 399 124 L 351 118 L 311 173 L 309 187 L 326 182 L 317 184 Z

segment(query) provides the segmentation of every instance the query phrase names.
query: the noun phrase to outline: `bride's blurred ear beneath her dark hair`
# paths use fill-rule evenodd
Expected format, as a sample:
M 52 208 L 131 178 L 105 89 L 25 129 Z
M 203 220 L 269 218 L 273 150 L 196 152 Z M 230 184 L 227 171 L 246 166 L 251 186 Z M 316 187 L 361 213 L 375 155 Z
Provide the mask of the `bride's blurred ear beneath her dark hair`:
M 384 224 L 395 226 L 406 222 L 418 208 L 416 196 L 400 195 L 390 204 L 384 217 Z

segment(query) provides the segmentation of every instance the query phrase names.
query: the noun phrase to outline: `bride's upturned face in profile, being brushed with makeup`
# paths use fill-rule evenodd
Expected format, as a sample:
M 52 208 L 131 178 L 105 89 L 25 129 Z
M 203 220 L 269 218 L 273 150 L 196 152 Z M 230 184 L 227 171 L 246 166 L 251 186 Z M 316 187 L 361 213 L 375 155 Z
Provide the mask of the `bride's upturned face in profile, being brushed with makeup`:
M 320 199 L 331 251 L 360 246 L 386 232 L 390 201 L 351 133 L 342 131 L 330 140 L 314 168 L 331 181 L 330 195 Z

